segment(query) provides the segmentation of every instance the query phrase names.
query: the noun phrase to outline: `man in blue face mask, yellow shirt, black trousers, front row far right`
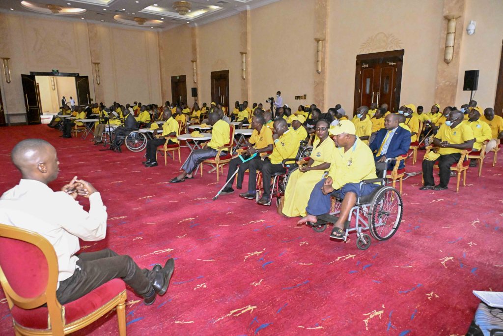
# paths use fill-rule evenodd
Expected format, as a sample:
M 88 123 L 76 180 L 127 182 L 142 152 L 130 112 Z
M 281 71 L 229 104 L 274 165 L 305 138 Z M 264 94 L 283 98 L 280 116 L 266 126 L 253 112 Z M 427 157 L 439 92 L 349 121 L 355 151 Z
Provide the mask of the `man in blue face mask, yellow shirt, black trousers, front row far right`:
M 440 126 L 439 131 L 433 138 L 433 145 L 440 147 L 437 153 L 431 151 L 423 160 L 424 185 L 420 190 L 445 190 L 451 178 L 451 166 L 461 158 L 461 152 L 473 148 L 473 131 L 469 125 L 463 122 L 463 112 L 451 111 L 447 120 Z M 433 166 L 438 162 L 440 168 L 440 182 L 435 186 L 433 178 Z

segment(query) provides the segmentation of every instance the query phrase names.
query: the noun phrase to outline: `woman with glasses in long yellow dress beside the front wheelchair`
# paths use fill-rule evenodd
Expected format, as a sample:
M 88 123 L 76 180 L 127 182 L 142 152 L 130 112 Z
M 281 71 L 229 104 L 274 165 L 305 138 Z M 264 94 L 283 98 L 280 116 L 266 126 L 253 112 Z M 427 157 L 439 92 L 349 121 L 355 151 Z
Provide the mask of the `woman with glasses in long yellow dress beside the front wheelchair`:
M 328 136 L 330 124 L 321 119 L 316 122 L 318 140 L 314 141 L 311 158 L 306 166 L 295 170 L 288 178 L 285 190 L 283 215 L 288 217 L 305 216 L 309 195 L 325 171 L 330 168 L 336 145 Z

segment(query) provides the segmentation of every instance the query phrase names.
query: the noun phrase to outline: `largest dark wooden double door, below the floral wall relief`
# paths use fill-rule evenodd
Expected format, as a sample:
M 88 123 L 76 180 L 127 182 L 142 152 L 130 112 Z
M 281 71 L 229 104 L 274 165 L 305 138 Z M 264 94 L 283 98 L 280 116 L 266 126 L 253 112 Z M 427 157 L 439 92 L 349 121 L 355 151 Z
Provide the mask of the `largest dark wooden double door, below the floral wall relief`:
M 396 111 L 400 103 L 403 50 L 357 55 L 355 105 L 388 105 Z

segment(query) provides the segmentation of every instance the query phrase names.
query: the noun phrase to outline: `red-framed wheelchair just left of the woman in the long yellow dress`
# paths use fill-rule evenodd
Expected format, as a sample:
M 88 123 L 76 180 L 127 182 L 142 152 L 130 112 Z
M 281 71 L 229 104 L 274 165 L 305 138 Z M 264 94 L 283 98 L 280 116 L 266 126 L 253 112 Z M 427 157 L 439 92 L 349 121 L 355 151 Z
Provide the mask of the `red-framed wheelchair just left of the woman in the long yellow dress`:
M 307 141 L 301 141 L 299 150 L 297 151 L 295 158 L 285 159 L 282 161 L 283 168 L 285 168 L 286 172 L 273 174 L 271 196 L 269 198 L 269 203 L 267 204 L 268 206 L 271 205 L 271 201 L 274 197 L 276 197 L 276 206 L 278 208 L 281 206 L 281 199 L 285 196 L 288 178 L 290 174 L 299 167 L 297 161 L 306 157 L 310 157 L 312 149 L 313 147 L 308 145 Z M 264 186 L 262 185 L 262 171 L 259 171 L 259 173 L 257 174 L 256 190 L 255 201 L 258 204 L 259 199 L 261 198 L 261 193 L 262 191 L 264 191 Z

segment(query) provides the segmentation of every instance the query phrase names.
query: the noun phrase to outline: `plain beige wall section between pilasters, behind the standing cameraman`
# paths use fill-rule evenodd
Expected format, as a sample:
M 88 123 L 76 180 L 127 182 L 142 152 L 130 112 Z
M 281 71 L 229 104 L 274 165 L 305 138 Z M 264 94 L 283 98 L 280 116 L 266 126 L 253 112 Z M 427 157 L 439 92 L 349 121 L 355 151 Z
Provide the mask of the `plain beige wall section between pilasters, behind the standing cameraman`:
M 314 5 L 314 1 L 283 0 L 251 11 L 250 103 L 268 108 L 266 99 L 278 90 L 293 110 L 313 100 Z M 307 100 L 294 100 L 303 94 Z

